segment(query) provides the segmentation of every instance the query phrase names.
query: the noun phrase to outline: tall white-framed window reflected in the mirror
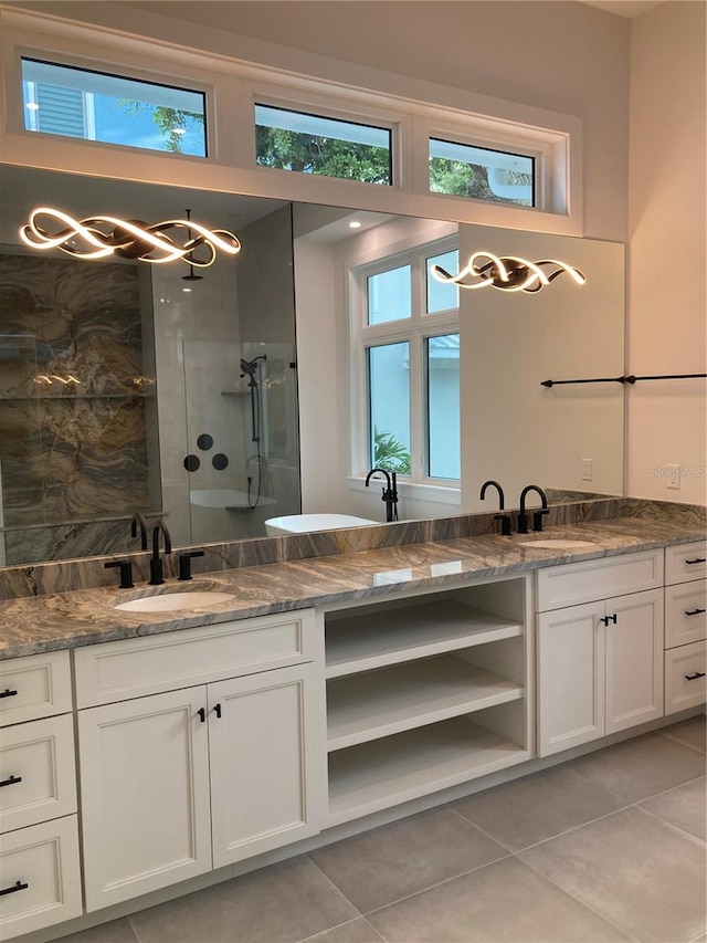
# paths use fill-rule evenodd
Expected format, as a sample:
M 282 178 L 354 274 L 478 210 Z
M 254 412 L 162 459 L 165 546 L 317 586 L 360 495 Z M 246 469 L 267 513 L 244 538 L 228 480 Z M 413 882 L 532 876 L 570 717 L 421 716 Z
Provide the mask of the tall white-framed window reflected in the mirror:
M 421 245 L 354 272 L 352 356 L 365 390 L 367 467 L 413 482 L 456 483 L 460 453 L 458 289 L 431 275 L 456 271 L 456 239 Z

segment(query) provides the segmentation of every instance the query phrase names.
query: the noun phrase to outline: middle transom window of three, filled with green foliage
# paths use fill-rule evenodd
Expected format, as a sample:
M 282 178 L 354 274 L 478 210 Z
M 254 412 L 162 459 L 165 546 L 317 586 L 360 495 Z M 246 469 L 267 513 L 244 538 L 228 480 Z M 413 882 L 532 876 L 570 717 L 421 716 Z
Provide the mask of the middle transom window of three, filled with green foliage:
M 261 167 L 392 185 L 390 128 L 255 105 Z

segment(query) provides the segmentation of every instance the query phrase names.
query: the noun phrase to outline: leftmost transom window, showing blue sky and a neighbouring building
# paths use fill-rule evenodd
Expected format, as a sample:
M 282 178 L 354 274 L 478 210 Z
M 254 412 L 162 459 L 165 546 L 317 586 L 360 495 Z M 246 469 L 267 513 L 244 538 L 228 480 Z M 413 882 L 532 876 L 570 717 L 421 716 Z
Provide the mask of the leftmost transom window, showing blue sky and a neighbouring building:
M 25 130 L 207 156 L 202 92 L 22 59 Z

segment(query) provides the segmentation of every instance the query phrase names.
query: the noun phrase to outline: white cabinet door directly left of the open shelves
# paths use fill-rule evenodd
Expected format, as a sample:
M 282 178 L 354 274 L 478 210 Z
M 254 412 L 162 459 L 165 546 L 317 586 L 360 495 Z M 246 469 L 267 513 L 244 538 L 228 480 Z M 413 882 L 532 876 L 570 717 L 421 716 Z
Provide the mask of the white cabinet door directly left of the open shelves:
M 304 664 L 209 684 L 214 868 L 319 831 L 319 683 Z

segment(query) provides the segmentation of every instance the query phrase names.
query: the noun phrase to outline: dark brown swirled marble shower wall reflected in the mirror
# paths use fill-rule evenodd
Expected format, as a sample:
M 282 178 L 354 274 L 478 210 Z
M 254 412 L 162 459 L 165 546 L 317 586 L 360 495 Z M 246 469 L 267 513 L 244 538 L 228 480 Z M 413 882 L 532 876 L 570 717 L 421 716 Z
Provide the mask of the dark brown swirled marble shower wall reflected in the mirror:
M 110 518 L 149 506 L 143 317 L 134 265 L 97 279 L 71 259 L 0 255 L 4 563 L 95 554 Z

